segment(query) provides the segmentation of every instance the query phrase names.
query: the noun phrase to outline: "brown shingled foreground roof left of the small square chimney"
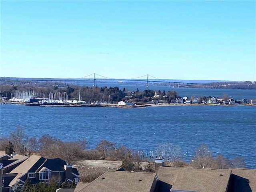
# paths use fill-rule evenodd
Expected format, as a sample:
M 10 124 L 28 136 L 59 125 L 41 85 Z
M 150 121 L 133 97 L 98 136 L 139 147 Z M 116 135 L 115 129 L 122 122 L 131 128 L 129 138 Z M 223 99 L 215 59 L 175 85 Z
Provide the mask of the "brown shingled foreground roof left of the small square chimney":
M 108 171 L 76 192 L 151 192 L 154 191 L 155 173 Z M 155 181 L 155 182 L 154 182 Z

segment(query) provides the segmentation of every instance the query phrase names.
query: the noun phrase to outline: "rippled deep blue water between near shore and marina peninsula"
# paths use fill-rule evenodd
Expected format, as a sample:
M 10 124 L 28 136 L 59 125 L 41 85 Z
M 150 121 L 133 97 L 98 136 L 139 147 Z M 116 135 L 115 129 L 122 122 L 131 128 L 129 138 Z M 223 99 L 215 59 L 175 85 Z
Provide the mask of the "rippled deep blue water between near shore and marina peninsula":
M 256 168 L 255 106 L 124 109 L 2 104 L 0 113 L 4 136 L 20 126 L 36 138 L 50 134 L 66 141 L 86 139 L 90 148 L 102 139 L 145 151 L 155 151 L 159 143 L 171 142 L 182 148 L 186 161 L 205 143 L 214 154 L 229 159 L 243 157 L 248 168 Z

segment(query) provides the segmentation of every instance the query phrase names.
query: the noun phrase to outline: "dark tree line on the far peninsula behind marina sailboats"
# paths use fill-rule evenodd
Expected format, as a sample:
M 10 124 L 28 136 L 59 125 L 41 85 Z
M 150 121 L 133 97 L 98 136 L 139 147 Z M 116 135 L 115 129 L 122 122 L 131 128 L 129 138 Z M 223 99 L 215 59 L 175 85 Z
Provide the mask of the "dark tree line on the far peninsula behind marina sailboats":
M 85 100 L 89 103 L 91 102 L 110 102 L 117 103 L 119 101 L 129 100 L 130 102 L 136 103 L 145 103 L 151 102 L 152 100 L 162 100 L 165 103 L 171 103 L 171 100 L 176 100 L 179 97 L 176 91 L 168 91 L 162 92 L 160 90 L 143 90 L 140 91 L 138 88 L 135 91 L 126 91 L 125 88 L 120 90 L 117 86 L 115 87 L 88 87 L 88 86 L 66 86 L 66 87 L 58 87 L 58 86 L 38 86 L 32 84 L 18 84 L 18 85 L 10 85 L 10 84 L 0 84 L 0 96 L 6 97 L 7 100 L 16 96 L 18 97 L 18 93 L 21 92 L 29 92 L 34 93 L 36 96 L 49 98 L 49 94 L 52 98 L 56 98 L 58 100 L 74 100 L 80 99 Z M 159 98 L 154 98 L 154 95 L 158 94 Z M 195 96 L 191 96 L 190 99 L 194 99 Z M 199 102 L 207 101 L 211 99 L 211 96 L 200 96 Z M 227 94 L 223 95 L 224 100 L 228 100 L 229 96 Z

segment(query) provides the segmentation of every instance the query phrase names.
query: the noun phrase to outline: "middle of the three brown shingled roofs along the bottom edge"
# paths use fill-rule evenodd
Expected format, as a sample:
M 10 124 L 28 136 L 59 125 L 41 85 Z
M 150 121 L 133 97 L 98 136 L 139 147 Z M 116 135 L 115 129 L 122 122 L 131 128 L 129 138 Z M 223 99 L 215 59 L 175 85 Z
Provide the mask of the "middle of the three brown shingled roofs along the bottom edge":
M 230 170 L 188 167 L 160 167 L 158 178 L 160 191 L 182 190 L 200 192 L 225 192 L 228 188 Z

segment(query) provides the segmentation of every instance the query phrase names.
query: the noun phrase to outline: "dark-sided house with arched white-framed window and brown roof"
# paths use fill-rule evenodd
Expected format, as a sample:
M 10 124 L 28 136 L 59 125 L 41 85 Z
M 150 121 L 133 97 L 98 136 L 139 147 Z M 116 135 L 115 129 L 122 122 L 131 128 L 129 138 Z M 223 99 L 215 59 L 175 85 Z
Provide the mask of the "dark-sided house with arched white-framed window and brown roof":
M 31 184 L 39 182 L 48 184 L 51 178 L 59 183 L 65 181 L 78 183 L 80 176 L 77 169 L 66 164 L 64 160 L 32 155 L 10 172 L 2 174 L 2 192 L 10 192 L 14 186 L 24 187 L 26 179 L 29 179 Z

